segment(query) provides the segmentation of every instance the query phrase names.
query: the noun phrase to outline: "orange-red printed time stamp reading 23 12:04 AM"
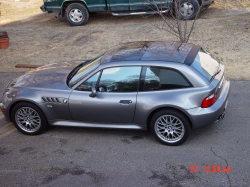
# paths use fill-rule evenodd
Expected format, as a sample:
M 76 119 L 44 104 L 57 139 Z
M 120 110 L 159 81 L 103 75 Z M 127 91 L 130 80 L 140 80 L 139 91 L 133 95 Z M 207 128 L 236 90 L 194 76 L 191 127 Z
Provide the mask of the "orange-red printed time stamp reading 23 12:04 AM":
M 222 167 L 220 165 L 204 165 L 203 171 L 205 173 L 231 173 L 231 167 Z M 191 165 L 190 166 L 190 173 L 198 173 L 198 165 Z

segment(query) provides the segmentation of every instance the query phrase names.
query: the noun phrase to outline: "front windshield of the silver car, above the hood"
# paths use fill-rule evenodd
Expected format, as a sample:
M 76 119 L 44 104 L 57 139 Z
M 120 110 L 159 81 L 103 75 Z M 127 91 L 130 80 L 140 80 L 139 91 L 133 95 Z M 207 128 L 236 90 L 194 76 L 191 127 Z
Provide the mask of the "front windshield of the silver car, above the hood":
M 76 83 L 78 83 L 86 75 L 88 75 L 90 72 L 95 70 L 100 65 L 101 57 L 102 56 L 100 56 L 92 61 L 89 61 L 89 63 L 87 63 L 83 67 L 79 68 L 79 70 L 74 73 L 73 77 L 69 81 L 69 86 L 72 87 L 72 86 L 76 85 Z

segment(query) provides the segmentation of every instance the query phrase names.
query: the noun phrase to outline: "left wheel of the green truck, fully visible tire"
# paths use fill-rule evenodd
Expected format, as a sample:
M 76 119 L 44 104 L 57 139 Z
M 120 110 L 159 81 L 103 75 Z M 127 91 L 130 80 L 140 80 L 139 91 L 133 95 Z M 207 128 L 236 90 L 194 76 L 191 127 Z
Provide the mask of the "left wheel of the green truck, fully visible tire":
M 79 13 L 80 16 L 73 17 L 72 12 Z M 80 3 L 72 3 L 66 8 L 66 19 L 72 26 L 81 26 L 87 23 L 89 19 L 89 11 Z

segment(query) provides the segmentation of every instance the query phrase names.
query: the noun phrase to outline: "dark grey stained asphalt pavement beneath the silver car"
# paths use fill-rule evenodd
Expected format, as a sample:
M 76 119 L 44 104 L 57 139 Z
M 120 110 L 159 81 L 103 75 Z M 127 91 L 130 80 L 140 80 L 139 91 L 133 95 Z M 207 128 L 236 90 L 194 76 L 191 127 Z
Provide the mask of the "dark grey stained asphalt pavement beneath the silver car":
M 0 73 L 1 94 L 16 75 Z M 178 147 L 145 131 L 51 127 L 25 136 L 0 114 L 0 185 L 250 186 L 249 88 L 232 81 L 225 119 L 194 130 Z

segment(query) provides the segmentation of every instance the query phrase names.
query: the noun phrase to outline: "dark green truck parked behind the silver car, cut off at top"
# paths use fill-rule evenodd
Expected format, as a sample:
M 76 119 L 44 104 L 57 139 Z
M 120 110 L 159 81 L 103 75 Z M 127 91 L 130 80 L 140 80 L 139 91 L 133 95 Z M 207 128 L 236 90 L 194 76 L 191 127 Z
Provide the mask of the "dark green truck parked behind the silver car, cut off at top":
M 174 0 L 43 0 L 40 7 L 43 12 L 57 12 L 66 17 L 72 26 L 84 25 L 91 12 L 111 12 L 113 16 L 155 14 L 155 2 L 163 13 L 168 12 Z M 213 0 L 178 0 L 180 18 L 192 20 L 196 17 L 200 6 L 208 8 Z

